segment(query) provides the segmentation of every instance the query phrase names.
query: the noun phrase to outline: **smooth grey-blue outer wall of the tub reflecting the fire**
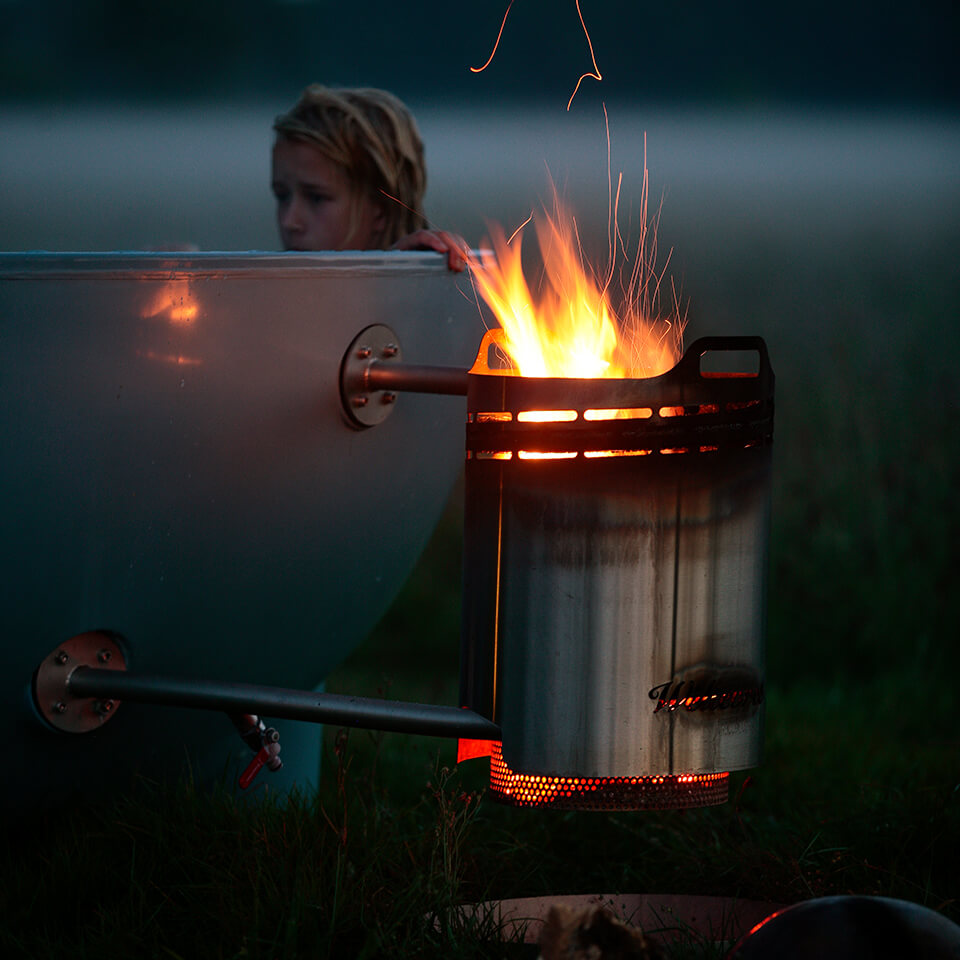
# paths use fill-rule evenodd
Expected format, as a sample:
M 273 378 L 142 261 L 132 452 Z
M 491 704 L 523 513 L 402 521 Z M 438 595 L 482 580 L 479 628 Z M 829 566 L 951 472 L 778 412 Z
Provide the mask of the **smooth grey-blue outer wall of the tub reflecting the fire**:
M 67 638 L 307 689 L 383 614 L 461 468 L 465 401 L 406 394 L 349 426 L 341 359 L 376 323 L 423 364 L 469 366 L 482 333 L 435 254 L 0 255 L 0 683 L 24 773 L 6 805 L 176 770 L 185 747 L 212 773 L 234 749 L 221 716 L 136 704 L 51 733 L 30 680 Z M 319 728 L 278 726 L 270 782 L 305 785 Z

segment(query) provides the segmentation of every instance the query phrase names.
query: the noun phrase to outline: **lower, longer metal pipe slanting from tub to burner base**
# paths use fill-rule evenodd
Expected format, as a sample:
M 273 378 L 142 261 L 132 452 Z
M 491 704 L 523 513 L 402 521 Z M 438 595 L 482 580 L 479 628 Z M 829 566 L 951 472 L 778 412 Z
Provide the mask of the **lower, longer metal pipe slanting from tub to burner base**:
M 287 720 L 335 723 L 430 737 L 499 740 L 500 728 L 472 710 L 405 703 L 335 693 L 287 690 L 251 683 L 189 680 L 131 674 L 122 670 L 77 667 L 67 680 L 71 696 L 128 700 L 167 706 L 266 714 Z

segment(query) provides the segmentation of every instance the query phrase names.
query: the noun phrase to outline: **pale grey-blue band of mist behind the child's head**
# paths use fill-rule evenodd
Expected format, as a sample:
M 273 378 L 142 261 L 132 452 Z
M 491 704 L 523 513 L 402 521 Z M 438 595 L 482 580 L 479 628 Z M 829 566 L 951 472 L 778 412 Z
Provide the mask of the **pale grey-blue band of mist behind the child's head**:
M 427 144 L 427 212 L 478 243 L 548 196 L 547 170 L 588 238 L 605 236 L 607 148 L 597 111 L 412 105 Z M 0 110 L 0 249 L 195 243 L 276 249 L 275 105 Z M 610 108 L 621 228 L 635 224 L 644 143 L 651 206 L 678 249 L 793 234 L 925 242 L 960 220 L 960 121 L 840 112 Z M 635 236 L 635 233 L 633 234 Z

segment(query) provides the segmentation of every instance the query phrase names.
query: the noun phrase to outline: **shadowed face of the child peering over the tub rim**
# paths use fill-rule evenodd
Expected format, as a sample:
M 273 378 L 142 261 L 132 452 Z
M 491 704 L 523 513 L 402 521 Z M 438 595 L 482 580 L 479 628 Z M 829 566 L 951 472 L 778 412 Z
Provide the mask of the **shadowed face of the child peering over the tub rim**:
M 272 187 L 284 250 L 381 248 L 383 208 L 367 197 L 355 203 L 346 175 L 317 147 L 279 137 L 273 147 Z

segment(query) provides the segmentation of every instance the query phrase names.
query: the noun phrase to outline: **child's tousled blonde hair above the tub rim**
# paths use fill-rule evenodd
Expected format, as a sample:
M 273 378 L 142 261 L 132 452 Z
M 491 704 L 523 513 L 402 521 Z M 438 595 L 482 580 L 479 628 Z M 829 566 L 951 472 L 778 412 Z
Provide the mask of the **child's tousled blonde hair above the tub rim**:
M 364 196 L 383 206 L 385 247 L 425 225 L 423 141 L 410 111 L 392 93 L 311 84 L 273 129 L 278 138 L 317 147 L 346 174 L 354 188 L 351 234 Z

